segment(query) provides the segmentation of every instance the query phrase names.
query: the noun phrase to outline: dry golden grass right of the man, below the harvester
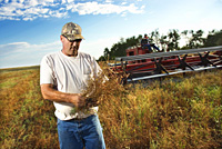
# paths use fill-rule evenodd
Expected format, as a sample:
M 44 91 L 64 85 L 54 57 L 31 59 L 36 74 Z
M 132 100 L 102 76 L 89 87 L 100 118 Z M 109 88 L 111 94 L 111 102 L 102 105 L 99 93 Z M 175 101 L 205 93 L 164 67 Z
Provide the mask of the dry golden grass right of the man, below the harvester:
M 221 76 L 219 70 L 161 87 L 137 85 L 103 99 L 100 119 L 109 148 L 222 147 Z

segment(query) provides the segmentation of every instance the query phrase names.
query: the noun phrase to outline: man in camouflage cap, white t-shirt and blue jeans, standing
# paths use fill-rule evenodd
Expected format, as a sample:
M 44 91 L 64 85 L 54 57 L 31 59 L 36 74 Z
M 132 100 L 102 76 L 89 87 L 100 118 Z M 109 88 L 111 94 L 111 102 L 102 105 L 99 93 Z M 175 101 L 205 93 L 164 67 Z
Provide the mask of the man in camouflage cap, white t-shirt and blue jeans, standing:
M 88 80 L 101 71 L 94 58 L 79 51 L 82 39 L 79 24 L 63 26 L 62 50 L 44 56 L 41 61 L 41 92 L 54 103 L 61 149 L 104 149 L 98 107 L 77 110 L 85 105 L 81 92 Z

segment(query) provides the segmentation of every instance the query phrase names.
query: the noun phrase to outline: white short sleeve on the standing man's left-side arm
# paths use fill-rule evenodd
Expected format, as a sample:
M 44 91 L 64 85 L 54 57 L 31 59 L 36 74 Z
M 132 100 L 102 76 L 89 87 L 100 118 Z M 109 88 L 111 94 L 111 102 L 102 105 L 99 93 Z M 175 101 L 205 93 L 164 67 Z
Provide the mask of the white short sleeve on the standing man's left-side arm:
M 53 85 L 53 69 L 52 62 L 49 57 L 44 56 L 40 64 L 40 85 L 52 83 Z

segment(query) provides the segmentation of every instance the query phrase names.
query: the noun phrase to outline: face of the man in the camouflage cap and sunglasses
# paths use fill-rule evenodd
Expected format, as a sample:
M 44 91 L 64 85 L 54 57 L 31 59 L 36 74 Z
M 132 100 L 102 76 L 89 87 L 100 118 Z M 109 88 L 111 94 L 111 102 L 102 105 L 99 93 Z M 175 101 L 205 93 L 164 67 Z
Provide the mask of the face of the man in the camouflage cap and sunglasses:
M 64 36 L 60 36 L 62 42 L 62 52 L 68 57 L 77 57 L 81 39 L 69 41 Z

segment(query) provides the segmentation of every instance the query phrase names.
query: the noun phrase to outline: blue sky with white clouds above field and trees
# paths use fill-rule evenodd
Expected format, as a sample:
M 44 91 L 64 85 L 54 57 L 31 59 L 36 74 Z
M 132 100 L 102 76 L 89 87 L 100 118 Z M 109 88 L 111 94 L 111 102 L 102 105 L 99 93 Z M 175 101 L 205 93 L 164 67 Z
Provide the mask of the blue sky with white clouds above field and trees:
M 62 49 L 67 22 L 80 24 L 80 51 L 98 59 L 121 38 L 221 30 L 222 0 L 0 0 L 0 68 L 40 64 Z

